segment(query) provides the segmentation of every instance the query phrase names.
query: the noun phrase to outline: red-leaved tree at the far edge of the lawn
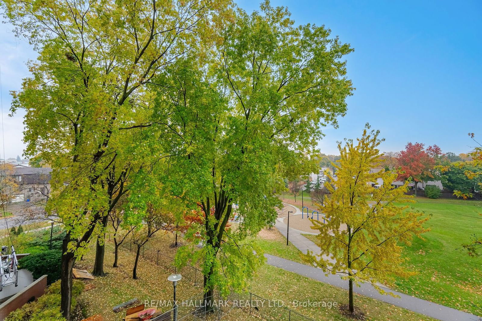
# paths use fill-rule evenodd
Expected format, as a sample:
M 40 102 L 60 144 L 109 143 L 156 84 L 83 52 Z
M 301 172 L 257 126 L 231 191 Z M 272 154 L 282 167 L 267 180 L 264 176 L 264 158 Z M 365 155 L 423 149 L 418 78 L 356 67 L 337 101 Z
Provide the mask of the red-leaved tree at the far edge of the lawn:
M 442 152 L 437 145 L 429 146 L 425 150 L 424 144 L 409 142 L 405 146 L 405 150 L 401 151 L 397 157 L 398 164 L 403 171 L 398 179 L 406 180 L 411 177 L 414 180 L 416 195 L 418 182 L 433 178 L 431 170 L 435 166 L 435 158 L 440 154 Z

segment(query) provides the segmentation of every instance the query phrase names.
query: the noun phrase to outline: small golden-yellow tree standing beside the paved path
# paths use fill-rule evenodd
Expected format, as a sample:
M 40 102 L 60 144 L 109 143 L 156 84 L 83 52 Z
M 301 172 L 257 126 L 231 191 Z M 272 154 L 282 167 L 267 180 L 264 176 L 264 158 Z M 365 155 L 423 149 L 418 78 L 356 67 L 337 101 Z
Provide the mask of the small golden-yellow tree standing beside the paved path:
M 325 223 L 312 219 L 312 229 L 319 230 L 316 244 L 321 253 L 308 252 L 304 258 L 324 272 L 340 273 L 348 280 L 348 312 L 355 314 L 353 284 L 368 282 L 380 293 L 385 293 L 378 283 L 390 284 L 394 277 L 408 277 L 413 272 L 403 266 L 403 245 L 410 245 L 414 235 L 428 231 L 423 223 L 423 213 L 408 205 L 398 205 L 410 200 L 404 195 L 407 182 L 395 188 L 392 182 L 398 173 L 371 170 L 383 166 L 378 145 L 379 131 L 367 124 L 363 135 L 355 143 L 346 140 L 340 151 L 336 180 L 326 183 L 331 197 L 325 199 Z M 383 167 L 382 167 L 383 168 Z M 372 184 L 380 185 L 379 188 Z M 328 219 L 329 218 L 329 219 Z

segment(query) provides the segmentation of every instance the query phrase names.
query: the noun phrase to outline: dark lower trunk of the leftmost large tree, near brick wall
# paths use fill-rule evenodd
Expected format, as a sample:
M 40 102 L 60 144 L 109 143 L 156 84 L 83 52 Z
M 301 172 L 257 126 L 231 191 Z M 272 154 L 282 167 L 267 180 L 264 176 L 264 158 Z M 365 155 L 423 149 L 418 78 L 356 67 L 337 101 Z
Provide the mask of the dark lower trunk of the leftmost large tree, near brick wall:
M 64 237 L 62 242 L 62 267 L 60 275 L 60 310 L 62 316 L 70 321 L 70 305 L 72 304 L 72 268 L 74 266 L 74 253 L 68 252 L 70 233 Z

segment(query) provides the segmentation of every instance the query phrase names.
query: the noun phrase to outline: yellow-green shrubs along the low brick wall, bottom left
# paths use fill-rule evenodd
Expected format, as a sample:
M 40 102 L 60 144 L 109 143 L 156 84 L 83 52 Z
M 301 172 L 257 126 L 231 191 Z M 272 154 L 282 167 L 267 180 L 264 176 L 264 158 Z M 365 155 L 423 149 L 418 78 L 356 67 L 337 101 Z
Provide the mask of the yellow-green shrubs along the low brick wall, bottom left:
M 82 293 L 84 283 L 74 280 L 72 284 L 72 308 L 76 306 L 75 298 Z M 45 294 L 37 301 L 27 303 L 10 312 L 5 321 L 64 321 L 60 312 L 60 281 L 52 283 Z

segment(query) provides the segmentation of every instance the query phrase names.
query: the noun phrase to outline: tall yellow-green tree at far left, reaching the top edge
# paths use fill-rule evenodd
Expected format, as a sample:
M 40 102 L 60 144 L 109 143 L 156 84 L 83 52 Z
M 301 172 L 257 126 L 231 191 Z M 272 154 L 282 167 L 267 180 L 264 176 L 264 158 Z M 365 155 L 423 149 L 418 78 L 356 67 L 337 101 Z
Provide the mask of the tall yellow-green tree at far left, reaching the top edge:
M 29 63 L 32 76 L 14 93 L 12 112 L 26 109 L 26 154 L 53 168 L 48 210 L 67 230 L 61 273 L 67 320 L 72 266 L 93 235 L 100 237 L 94 271 L 103 274 L 103 231 L 138 165 L 128 147 L 150 113 L 147 84 L 178 57 L 199 50 L 225 2 L 1 2 L 17 36 L 39 51 Z

